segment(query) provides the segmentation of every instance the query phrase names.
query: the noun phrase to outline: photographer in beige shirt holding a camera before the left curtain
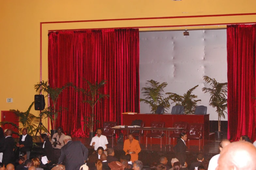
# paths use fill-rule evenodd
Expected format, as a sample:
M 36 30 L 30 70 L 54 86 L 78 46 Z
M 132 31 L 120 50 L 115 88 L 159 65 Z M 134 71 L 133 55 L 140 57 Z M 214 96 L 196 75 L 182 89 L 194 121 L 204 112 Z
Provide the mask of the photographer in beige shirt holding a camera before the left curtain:
M 62 133 L 62 131 L 63 131 L 62 127 L 58 127 L 57 133 L 53 134 L 53 137 L 51 140 L 51 144 L 52 144 L 52 147 L 54 148 L 54 155 L 56 157 L 55 158 L 56 160 L 59 159 L 61 148 L 64 146 L 63 138 L 66 135 Z M 55 141 L 55 138 L 56 138 L 56 141 Z M 56 142 L 56 145 L 53 145 L 54 142 Z

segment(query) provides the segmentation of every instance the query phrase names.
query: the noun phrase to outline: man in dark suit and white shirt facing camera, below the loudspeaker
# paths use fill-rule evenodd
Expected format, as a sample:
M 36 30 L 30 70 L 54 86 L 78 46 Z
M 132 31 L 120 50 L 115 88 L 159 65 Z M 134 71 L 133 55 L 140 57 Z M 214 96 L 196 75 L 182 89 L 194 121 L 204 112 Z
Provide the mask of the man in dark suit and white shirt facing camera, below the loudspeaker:
M 29 159 L 30 150 L 33 146 L 32 137 L 27 134 L 27 129 L 22 130 L 22 135 L 20 135 L 19 143 L 16 144 L 20 148 L 20 151 L 25 151 L 27 153 L 27 159 Z

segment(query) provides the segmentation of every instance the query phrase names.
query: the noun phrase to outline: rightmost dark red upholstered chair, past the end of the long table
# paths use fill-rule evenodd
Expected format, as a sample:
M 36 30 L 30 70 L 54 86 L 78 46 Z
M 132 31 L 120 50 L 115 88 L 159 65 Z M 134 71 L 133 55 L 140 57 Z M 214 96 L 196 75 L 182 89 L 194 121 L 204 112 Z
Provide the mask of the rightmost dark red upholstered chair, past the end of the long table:
M 199 140 L 199 150 L 203 146 L 203 124 L 202 123 L 188 123 L 187 127 L 187 141 L 189 148 L 189 140 Z

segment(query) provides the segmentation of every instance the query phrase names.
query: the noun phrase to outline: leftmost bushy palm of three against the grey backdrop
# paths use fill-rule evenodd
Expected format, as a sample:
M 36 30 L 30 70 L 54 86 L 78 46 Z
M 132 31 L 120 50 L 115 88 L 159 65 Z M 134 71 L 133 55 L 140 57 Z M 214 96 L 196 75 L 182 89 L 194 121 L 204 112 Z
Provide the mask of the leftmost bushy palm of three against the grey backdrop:
M 140 102 L 144 102 L 150 105 L 151 113 L 156 113 L 156 109 L 158 106 L 164 107 L 164 113 L 170 108 L 169 99 L 170 97 L 164 97 L 164 88 L 168 84 L 166 82 L 159 83 L 154 80 L 148 80 L 146 83 L 146 87 L 143 87 L 142 94 L 145 96 L 145 99 L 139 99 Z M 167 94 L 167 93 L 165 93 Z

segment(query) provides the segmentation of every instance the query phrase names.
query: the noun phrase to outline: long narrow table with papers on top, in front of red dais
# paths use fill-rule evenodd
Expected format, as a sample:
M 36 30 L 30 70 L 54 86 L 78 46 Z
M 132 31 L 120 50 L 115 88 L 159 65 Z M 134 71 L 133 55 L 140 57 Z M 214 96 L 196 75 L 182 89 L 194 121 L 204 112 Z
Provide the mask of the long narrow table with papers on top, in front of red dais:
M 184 130 L 184 128 L 155 128 L 155 127 L 125 127 L 125 128 L 112 127 L 111 129 L 112 129 L 112 132 L 115 131 L 115 130 L 127 130 L 127 134 L 129 134 L 129 131 L 131 133 L 132 130 L 133 131 L 136 131 L 136 130 L 139 130 L 139 131 L 166 131 L 166 133 L 163 132 L 165 134 L 165 136 L 166 136 L 166 146 L 170 145 L 169 142 L 167 144 L 167 139 L 169 138 L 170 131 L 181 131 L 181 130 Z M 114 147 L 113 135 L 112 135 L 112 147 Z

